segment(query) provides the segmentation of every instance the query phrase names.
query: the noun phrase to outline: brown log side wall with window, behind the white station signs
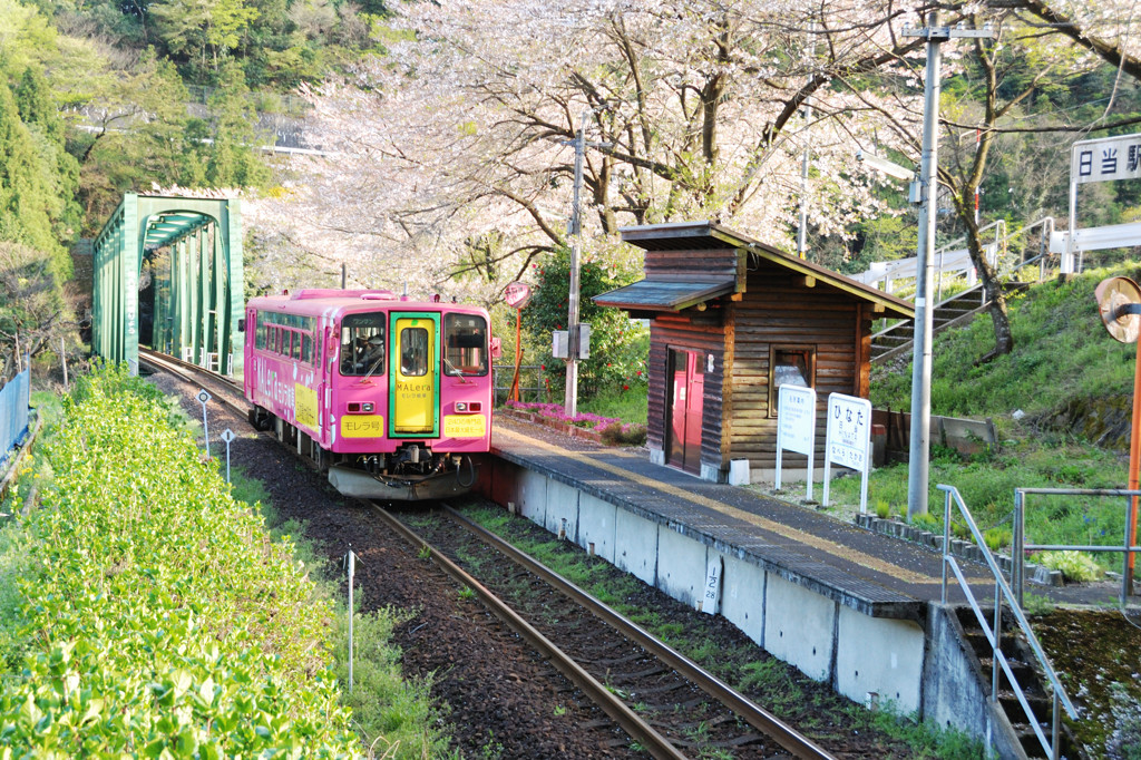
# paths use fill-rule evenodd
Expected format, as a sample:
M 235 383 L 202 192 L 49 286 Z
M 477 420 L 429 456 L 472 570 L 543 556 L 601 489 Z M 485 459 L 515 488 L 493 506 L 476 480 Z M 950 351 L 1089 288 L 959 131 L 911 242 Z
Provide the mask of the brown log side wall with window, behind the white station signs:
M 815 355 L 816 464 L 823 467 L 828 394 L 868 394 L 871 305 L 823 283 L 809 286 L 804 276 L 762 261 L 750 267 L 742 300 L 727 305 L 727 322 L 734 333 L 727 357 L 733 399 L 726 427 L 729 458 L 748 459 L 753 470 L 775 470 L 770 362 L 777 347 L 803 347 Z M 807 458 L 785 452 L 784 462 L 786 468 L 803 468 Z

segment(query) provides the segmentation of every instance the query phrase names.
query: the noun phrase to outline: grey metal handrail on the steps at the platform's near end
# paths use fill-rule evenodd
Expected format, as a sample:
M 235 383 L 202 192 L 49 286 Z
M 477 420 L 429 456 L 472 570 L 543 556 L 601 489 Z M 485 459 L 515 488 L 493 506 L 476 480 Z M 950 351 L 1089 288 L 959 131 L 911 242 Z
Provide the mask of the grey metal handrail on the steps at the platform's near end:
M 990 701 L 993 703 L 998 702 L 998 668 L 995 666 L 995 664 L 998 664 L 1002 665 L 1003 672 L 1006 673 L 1006 680 L 1010 682 L 1011 689 L 1014 692 L 1014 696 L 1018 697 L 1019 704 L 1022 705 L 1022 710 L 1026 712 L 1030 728 L 1034 729 L 1034 734 L 1042 744 L 1042 749 L 1046 752 L 1046 757 L 1051 758 L 1051 760 L 1058 760 L 1060 758 L 1058 739 L 1061 730 L 1061 714 L 1059 706 L 1065 708 L 1066 713 L 1074 720 L 1078 718 L 1077 708 L 1074 706 L 1069 695 L 1066 694 L 1066 689 L 1062 687 L 1061 680 L 1058 678 L 1058 673 L 1054 672 L 1053 665 L 1050 664 L 1050 658 L 1046 657 L 1042 645 L 1038 644 L 1038 638 L 1034 634 L 1034 631 L 1030 629 L 1030 623 L 1026 618 L 1026 614 L 1018 604 L 1018 597 L 1014 595 L 1013 590 L 1011 590 L 1010 583 L 1006 582 L 1006 579 L 1003 577 L 1002 569 L 1000 569 L 998 563 L 995 561 L 994 555 L 990 552 L 990 548 L 984 540 L 982 532 L 979 531 L 979 526 L 974 524 L 974 518 L 971 517 L 971 511 L 966 508 L 966 504 L 963 503 L 963 498 L 960 495 L 958 488 L 944 484 L 939 484 L 937 487 L 945 494 L 942 522 L 942 604 L 947 604 L 947 571 L 949 568 L 955 574 L 960 589 L 966 597 L 966 601 L 970 604 L 976 620 L 978 620 L 979 625 L 982 628 L 982 633 L 987 637 L 987 641 L 990 642 L 990 649 L 993 653 L 990 666 Z M 974 598 L 974 592 L 971 591 L 971 585 L 968 583 L 966 576 L 958 566 L 958 560 L 956 560 L 955 556 L 950 553 L 950 506 L 953 501 L 958 507 L 958 511 L 966 523 L 966 526 L 970 528 L 971 536 L 974 539 L 974 543 L 978 545 L 979 551 L 982 555 L 982 559 L 986 560 L 986 564 L 990 568 L 990 573 L 995 579 L 995 611 L 993 628 L 988 625 L 986 614 L 984 614 L 982 608 L 979 607 L 979 603 Z M 1042 727 L 1038 725 L 1038 721 L 1034 715 L 1034 710 L 1030 709 L 1030 704 L 1027 702 L 1026 692 L 1022 689 L 1021 684 L 1018 682 L 1018 679 L 1014 677 L 1014 672 L 1010 666 L 1010 662 L 1006 660 L 1006 655 L 1002 652 L 1003 600 L 1005 600 L 1005 603 L 1010 606 L 1010 611 L 1014 615 L 1014 620 L 1018 622 L 1019 628 L 1021 628 L 1022 634 L 1026 636 L 1026 641 L 1029 644 L 1030 650 L 1037 658 L 1038 665 L 1042 668 L 1042 672 L 1053 687 L 1050 739 L 1046 739 L 1045 734 L 1042 731 Z

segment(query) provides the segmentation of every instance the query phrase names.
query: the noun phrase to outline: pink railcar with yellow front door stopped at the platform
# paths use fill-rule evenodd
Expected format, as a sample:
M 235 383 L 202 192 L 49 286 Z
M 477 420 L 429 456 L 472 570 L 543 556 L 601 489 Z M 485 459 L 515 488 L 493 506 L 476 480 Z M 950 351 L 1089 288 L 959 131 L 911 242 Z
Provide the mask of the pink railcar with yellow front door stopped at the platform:
M 492 430 L 486 310 L 302 290 L 250 299 L 243 326 L 250 421 L 315 459 L 338 491 L 416 501 L 475 485 Z

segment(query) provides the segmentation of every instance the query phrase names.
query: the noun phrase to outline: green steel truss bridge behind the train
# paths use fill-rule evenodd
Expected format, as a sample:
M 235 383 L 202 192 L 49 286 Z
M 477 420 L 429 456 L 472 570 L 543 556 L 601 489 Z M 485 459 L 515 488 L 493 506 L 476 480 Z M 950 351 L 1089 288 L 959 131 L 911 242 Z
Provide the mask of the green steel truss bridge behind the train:
M 91 350 L 138 371 L 139 341 L 241 375 L 237 199 L 127 193 L 95 238 Z M 140 281 L 149 281 L 141 291 Z

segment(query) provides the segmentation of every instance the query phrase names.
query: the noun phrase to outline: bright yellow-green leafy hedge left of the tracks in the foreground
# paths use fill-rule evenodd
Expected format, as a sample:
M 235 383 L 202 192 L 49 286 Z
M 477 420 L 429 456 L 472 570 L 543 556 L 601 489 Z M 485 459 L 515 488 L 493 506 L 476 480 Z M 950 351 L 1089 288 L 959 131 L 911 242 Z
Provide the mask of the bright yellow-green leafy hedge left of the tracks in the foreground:
M 39 572 L 0 671 L 3 757 L 355 755 L 329 604 L 155 393 L 110 371 L 65 402 L 15 555 Z

